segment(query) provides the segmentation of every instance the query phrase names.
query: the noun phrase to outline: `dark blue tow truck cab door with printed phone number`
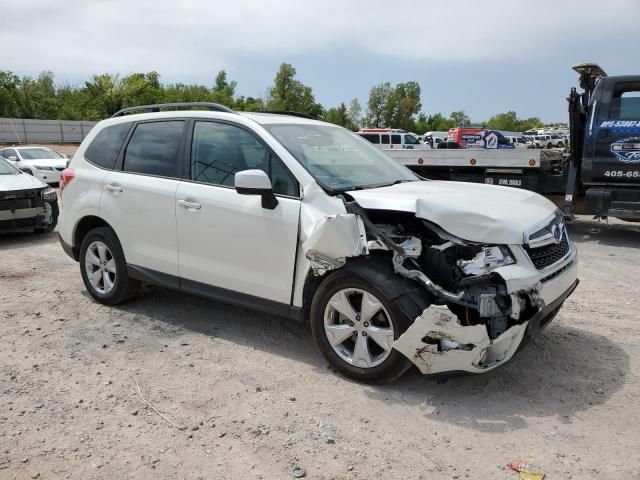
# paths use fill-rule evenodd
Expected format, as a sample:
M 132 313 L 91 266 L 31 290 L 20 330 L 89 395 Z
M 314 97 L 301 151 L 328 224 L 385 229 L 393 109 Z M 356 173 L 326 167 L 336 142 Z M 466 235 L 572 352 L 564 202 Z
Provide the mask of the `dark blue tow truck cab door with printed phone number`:
M 604 79 L 585 132 L 584 183 L 640 182 L 640 80 Z

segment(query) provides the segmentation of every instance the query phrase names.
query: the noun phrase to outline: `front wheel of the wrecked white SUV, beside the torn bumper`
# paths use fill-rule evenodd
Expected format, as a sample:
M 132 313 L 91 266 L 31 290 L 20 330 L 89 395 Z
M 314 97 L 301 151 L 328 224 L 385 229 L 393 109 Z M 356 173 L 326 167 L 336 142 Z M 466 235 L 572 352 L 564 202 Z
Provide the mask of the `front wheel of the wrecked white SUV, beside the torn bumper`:
M 363 271 L 368 268 L 362 265 L 358 271 L 347 265 L 329 274 L 313 297 L 311 330 L 322 355 L 340 373 L 362 382 L 384 383 L 411 367 L 392 348 L 393 342 L 429 301 L 415 293 L 415 283 L 393 298 L 389 284 L 406 279 L 391 268 L 372 265 Z

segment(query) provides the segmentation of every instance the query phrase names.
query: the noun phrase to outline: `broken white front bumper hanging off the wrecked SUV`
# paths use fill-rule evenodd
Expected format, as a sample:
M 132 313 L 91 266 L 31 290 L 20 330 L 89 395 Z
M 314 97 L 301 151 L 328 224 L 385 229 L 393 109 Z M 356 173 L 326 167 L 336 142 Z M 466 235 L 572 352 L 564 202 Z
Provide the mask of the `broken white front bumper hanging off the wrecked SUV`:
M 578 286 L 573 283 L 533 317 L 491 340 L 484 325 L 463 326 L 446 306 L 431 306 L 393 344 L 420 372 L 484 373 L 508 362 L 556 316 Z

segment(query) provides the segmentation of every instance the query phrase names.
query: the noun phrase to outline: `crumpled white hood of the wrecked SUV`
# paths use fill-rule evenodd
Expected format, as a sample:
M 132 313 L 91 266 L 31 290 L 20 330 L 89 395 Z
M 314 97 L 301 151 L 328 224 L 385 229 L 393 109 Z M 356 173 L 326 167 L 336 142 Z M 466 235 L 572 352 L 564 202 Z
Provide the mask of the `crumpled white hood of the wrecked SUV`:
M 456 237 L 493 244 L 522 244 L 556 210 L 537 193 L 481 183 L 427 180 L 348 193 L 363 208 L 413 212 Z

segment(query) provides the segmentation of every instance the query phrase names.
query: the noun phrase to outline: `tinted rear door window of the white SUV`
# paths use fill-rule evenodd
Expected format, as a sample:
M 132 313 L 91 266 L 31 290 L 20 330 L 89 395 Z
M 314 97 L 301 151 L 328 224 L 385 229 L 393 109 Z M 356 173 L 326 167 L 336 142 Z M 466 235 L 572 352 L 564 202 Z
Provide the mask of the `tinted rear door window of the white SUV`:
M 127 145 L 122 169 L 160 177 L 177 177 L 183 125 L 183 121 L 138 124 Z

